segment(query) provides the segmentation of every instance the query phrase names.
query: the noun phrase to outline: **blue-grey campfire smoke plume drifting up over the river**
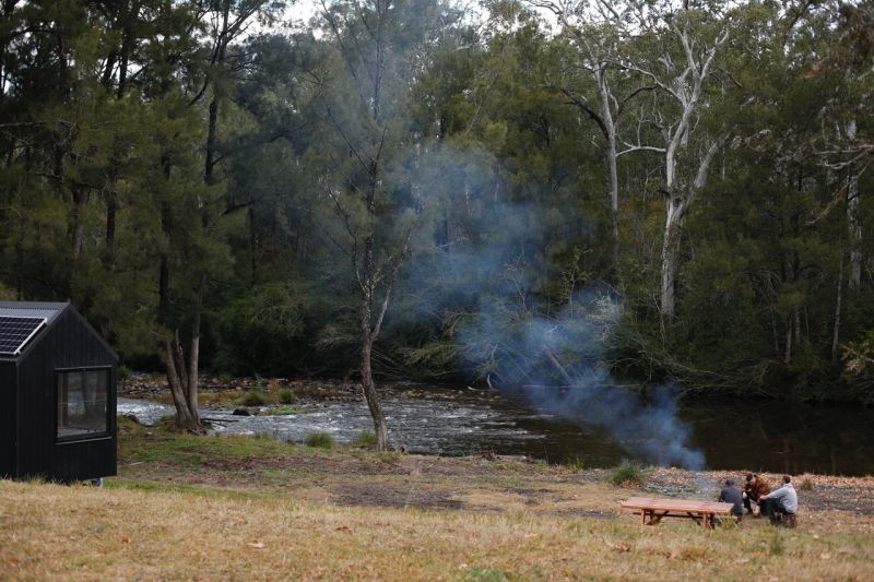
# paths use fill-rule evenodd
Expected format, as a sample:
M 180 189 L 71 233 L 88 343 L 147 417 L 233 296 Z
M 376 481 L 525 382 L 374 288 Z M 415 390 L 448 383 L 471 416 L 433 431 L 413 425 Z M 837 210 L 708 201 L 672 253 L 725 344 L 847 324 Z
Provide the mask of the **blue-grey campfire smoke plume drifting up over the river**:
M 646 462 L 704 467 L 704 454 L 690 447 L 690 431 L 677 415 L 673 387 L 641 394 L 618 387 L 605 365 L 621 297 L 606 286 L 570 285 L 557 312 L 554 301 L 541 299 L 544 282 L 563 275 L 546 249 L 584 248 L 594 236 L 590 229 L 562 224 L 559 209 L 497 202 L 494 193 L 505 186 L 499 165 L 485 163 L 481 152 L 444 146 L 429 156 L 420 166 L 433 174 L 422 177 L 423 188 L 444 206 L 429 221 L 428 235 L 438 245 L 409 272 L 404 294 L 421 311 L 406 317 L 451 321 L 471 373 L 523 395 L 539 412 L 602 427 Z M 556 384 L 563 388 L 546 388 Z

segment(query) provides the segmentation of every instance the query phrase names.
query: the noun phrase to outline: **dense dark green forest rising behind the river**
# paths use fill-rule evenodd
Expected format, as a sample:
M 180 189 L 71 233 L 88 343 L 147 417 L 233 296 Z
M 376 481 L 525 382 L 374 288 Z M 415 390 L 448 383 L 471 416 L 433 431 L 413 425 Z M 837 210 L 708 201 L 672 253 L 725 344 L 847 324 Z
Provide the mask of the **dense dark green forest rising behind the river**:
M 0 299 L 73 301 L 181 402 L 200 369 L 874 402 L 872 2 L 316 8 L 2 0 Z

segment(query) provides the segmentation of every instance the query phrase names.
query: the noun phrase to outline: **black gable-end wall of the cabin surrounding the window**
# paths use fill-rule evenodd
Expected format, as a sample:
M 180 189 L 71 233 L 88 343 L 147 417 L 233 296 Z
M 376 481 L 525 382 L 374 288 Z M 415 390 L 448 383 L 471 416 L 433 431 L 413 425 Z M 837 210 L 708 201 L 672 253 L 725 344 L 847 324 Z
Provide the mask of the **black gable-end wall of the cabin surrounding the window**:
M 55 370 L 111 367 L 108 437 L 57 440 Z M 91 328 L 68 309 L 21 359 L 19 373 L 20 476 L 80 480 L 116 474 L 116 357 Z

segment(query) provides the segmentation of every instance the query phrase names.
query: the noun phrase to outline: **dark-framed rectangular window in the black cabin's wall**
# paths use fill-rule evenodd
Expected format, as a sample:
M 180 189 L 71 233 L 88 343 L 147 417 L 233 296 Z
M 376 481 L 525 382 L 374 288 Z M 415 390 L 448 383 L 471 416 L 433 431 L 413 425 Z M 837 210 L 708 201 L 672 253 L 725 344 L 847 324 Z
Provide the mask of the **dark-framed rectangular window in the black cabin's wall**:
M 56 372 L 55 377 L 58 392 L 58 438 L 107 432 L 109 370 L 64 370 Z

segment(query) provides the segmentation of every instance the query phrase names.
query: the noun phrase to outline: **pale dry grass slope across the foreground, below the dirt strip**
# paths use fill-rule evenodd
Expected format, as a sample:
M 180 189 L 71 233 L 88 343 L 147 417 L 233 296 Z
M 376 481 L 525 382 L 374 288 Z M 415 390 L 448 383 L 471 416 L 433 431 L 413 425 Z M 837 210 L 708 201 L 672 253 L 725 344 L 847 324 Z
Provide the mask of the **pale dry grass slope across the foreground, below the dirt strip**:
M 0 482 L 15 580 L 870 579 L 871 535 Z

